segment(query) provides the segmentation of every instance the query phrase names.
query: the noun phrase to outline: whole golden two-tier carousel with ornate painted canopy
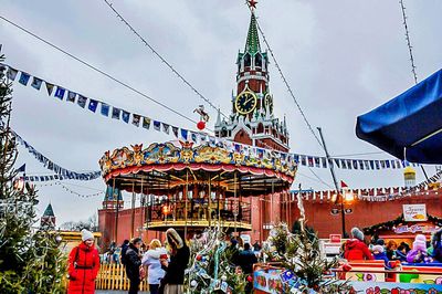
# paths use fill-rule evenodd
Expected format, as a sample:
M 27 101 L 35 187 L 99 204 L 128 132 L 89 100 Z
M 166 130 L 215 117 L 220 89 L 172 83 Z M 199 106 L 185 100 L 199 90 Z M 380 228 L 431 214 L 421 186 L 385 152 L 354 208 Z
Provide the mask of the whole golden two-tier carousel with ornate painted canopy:
M 286 154 L 230 141 L 134 145 L 105 153 L 99 165 L 113 189 L 146 199 L 146 230 L 185 235 L 214 225 L 251 230 L 250 197 L 288 190 L 297 170 Z

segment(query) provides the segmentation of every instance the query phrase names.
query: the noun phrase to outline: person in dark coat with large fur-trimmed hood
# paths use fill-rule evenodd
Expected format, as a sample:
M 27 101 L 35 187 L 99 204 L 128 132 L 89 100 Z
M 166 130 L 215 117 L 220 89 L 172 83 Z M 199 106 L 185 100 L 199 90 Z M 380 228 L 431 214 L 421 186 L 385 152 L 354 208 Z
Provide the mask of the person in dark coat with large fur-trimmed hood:
M 190 250 L 175 229 L 168 229 L 166 238 L 170 246 L 170 262 L 160 259 L 161 267 L 166 271 L 161 285 L 165 285 L 165 294 L 181 294 L 185 293 L 185 271 L 189 263 Z

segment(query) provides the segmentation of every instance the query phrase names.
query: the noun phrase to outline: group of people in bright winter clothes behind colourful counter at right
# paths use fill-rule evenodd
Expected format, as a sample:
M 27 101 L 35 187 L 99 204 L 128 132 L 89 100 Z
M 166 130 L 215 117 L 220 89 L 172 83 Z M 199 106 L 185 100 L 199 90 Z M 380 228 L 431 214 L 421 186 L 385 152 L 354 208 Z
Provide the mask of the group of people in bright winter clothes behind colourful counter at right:
M 343 244 L 343 258 L 348 261 L 357 260 L 381 260 L 386 269 L 394 267 L 398 262 L 407 263 L 442 263 L 442 229 L 434 232 L 431 241 L 425 235 L 417 234 L 412 246 L 406 242 L 398 244 L 394 240 L 377 239 L 367 244 L 365 235 L 358 228 L 351 229 L 351 238 Z

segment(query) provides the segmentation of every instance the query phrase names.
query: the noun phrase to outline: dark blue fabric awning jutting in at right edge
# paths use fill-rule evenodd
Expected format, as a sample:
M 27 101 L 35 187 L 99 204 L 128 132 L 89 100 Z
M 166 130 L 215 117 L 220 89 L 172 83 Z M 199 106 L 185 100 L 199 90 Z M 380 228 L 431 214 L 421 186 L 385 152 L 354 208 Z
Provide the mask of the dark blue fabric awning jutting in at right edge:
M 442 70 L 358 116 L 356 135 L 397 158 L 442 164 Z

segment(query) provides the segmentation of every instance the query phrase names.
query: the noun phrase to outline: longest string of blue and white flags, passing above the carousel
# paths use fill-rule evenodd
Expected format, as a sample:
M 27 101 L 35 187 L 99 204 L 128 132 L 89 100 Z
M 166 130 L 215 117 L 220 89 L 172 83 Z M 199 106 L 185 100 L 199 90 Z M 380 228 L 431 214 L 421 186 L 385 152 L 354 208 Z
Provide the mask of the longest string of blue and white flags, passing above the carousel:
M 17 70 L 11 67 L 10 65 L 0 63 L 2 71 L 7 70 L 7 77 L 11 81 L 18 80 L 23 86 L 31 85 L 36 91 L 41 88 L 45 88 L 49 96 L 54 96 L 60 101 L 66 101 L 67 103 L 76 104 L 81 108 L 87 109 L 91 113 L 99 113 L 105 117 L 110 117 L 113 119 L 122 120 L 125 124 L 131 124 L 135 127 L 143 127 L 145 129 L 154 129 L 156 132 L 162 132 L 167 135 L 173 135 L 177 139 L 188 140 L 196 144 L 212 144 L 212 145 L 223 145 L 225 148 L 230 150 L 235 150 L 240 153 L 254 153 L 256 155 L 266 154 L 280 155 L 282 159 L 295 160 L 299 166 L 305 166 L 309 168 L 338 168 L 338 169 L 347 169 L 347 170 L 380 170 L 380 169 L 401 169 L 409 165 L 411 166 L 420 166 L 419 164 L 411 164 L 408 161 L 402 161 L 398 159 L 348 159 L 348 158 L 329 158 L 313 156 L 313 155 L 301 155 L 301 154 L 288 154 L 281 153 L 276 150 L 270 150 L 266 148 L 252 147 L 249 145 L 243 145 L 239 143 L 233 143 L 225 138 L 218 138 L 211 135 L 208 135 L 203 132 L 193 132 L 187 128 L 181 128 L 178 126 L 173 126 L 171 124 L 167 124 L 157 119 L 152 119 L 149 116 L 134 114 L 123 108 L 113 106 L 108 103 L 96 98 L 90 98 L 85 95 L 82 95 L 77 92 L 69 90 L 64 86 L 56 85 L 54 83 L 50 83 L 43 78 L 33 76 L 27 72 Z M 96 171 L 98 172 L 98 171 Z M 57 172 L 59 174 L 59 172 Z M 59 174 L 60 175 L 60 174 Z M 96 176 L 96 174 L 94 174 Z M 92 176 L 92 177 L 94 177 Z M 84 176 L 83 176 L 84 178 Z

